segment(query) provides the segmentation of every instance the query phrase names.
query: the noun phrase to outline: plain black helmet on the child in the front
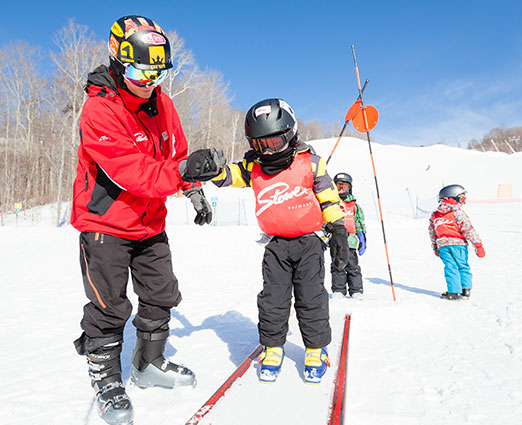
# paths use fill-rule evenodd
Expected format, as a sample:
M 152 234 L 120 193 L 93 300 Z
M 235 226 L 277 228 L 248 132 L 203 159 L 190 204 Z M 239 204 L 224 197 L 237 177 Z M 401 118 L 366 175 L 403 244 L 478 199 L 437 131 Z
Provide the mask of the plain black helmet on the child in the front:
M 245 136 L 250 144 L 250 139 L 278 134 L 284 134 L 291 146 L 297 145 L 297 119 L 288 103 L 282 99 L 265 99 L 248 110 L 245 117 Z

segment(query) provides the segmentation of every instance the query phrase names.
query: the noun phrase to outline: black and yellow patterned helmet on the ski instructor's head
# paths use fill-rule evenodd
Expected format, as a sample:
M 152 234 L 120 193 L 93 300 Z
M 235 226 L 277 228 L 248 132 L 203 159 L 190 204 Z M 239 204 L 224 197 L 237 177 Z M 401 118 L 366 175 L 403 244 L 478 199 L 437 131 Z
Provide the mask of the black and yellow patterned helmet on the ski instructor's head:
M 109 56 L 111 64 L 132 64 L 141 70 L 162 70 L 173 66 L 167 35 L 152 19 L 140 15 L 122 16 L 112 24 Z

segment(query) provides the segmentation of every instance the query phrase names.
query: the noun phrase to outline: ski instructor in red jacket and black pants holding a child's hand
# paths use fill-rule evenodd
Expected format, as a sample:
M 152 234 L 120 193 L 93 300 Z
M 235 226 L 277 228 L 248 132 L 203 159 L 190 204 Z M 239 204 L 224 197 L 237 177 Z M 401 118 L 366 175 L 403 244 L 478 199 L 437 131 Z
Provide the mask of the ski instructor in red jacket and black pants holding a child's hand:
M 201 185 L 179 174 L 187 142 L 172 100 L 160 83 L 172 68 L 170 44 L 151 19 L 118 19 L 109 36 L 110 65 L 87 79 L 80 120 L 72 225 L 80 234 L 85 294 L 82 335 L 98 413 L 131 424 L 132 404 L 121 377 L 123 329 L 132 313 L 129 269 L 138 295 L 131 380 L 139 387 L 195 385 L 194 373 L 169 362 L 164 350 L 170 310 L 181 301 L 165 234 L 167 196 L 183 190 L 197 224 L 210 223 Z

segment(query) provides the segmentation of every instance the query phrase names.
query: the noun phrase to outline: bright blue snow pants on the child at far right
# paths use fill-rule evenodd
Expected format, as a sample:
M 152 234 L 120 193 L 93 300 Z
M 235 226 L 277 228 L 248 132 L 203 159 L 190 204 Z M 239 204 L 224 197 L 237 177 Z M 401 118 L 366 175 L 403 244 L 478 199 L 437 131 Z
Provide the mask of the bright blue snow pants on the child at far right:
M 444 263 L 444 276 L 448 292 L 460 294 L 462 288 L 471 289 L 471 269 L 468 264 L 468 247 L 449 245 L 439 248 L 439 257 Z

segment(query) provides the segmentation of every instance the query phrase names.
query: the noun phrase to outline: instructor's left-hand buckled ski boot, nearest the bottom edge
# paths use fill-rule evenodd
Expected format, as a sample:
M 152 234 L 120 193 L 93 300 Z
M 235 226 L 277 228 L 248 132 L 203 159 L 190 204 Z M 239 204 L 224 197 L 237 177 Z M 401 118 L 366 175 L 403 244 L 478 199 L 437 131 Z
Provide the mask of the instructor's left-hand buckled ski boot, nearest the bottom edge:
M 111 425 L 132 425 L 131 401 L 121 379 L 121 341 L 105 344 L 87 354 L 98 414 Z

